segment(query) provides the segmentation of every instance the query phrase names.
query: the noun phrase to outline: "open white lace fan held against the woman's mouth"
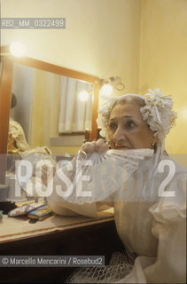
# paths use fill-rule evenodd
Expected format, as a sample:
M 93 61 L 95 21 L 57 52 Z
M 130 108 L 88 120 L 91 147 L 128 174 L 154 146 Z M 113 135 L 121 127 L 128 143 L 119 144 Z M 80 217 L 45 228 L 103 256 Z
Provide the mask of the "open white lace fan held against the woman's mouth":
M 151 149 L 108 150 L 105 154 L 79 154 L 73 190 L 69 196 L 63 196 L 68 202 L 104 201 L 126 182 L 145 157 L 151 157 Z

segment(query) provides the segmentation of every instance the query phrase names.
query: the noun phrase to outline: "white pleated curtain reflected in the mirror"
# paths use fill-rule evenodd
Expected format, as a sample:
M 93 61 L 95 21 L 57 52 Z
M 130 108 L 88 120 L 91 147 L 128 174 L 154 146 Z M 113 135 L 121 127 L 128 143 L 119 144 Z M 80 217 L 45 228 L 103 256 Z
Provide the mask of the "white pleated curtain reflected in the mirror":
M 60 78 L 59 133 L 91 130 L 92 96 L 87 101 L 79 98 L 81 91 L 89 91 L 90 83 L 72 78 Z

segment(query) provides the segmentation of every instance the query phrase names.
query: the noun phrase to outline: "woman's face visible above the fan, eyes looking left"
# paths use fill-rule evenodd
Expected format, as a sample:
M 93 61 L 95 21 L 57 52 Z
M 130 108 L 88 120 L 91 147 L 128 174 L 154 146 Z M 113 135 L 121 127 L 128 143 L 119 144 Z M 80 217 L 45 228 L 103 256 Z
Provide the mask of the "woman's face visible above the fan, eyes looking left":
M 116 105 L 108 122 L 108 137 L 112 149 L 152 149 L 157 138 L 142 119 L 140 106 L 133 103 Z

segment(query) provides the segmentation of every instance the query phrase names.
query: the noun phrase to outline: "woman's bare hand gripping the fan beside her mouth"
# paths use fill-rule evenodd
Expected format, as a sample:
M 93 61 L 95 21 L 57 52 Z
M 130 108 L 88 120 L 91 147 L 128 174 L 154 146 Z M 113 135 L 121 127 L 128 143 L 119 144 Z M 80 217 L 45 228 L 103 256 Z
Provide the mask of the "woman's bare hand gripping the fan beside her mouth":
M 82 145 L 80 152 L 85 152 L 86 154 L 93 154 L 97 152 L 101 154 L 109 149 L 109 146 L 105 143 L 104 139 L 98 139 L 97 141 L 86 142 Z

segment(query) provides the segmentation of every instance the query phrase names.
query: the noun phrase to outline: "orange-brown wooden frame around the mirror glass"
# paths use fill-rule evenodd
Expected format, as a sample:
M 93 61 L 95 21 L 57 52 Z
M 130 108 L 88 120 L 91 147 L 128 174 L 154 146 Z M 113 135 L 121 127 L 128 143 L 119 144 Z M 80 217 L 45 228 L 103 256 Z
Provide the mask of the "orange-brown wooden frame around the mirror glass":
M 1 47 L 2 69 L 0 86 L 0 185 L 4 185 L 5 182 L 6 153 L 11 110 L 12 76 L 14 63 L 92 83 L 94 85 L 94 99 L 92 108 L 92 130 L 90 136 L 91 140 L 97 138 L 96 120 L 100 83 L 100 79 L 96 76 L 88 75 L 79 71 L 68 69 L 66 67 L 60 67 L 58 65 L 47 63 L 38 59 L 32 59 L 28 57 L 16 58 L 10 53 L 7 53 L 8 55 L 6 55 L 4 53 L 4 51 L 6 50 L 8 50 L 7 47 Z

